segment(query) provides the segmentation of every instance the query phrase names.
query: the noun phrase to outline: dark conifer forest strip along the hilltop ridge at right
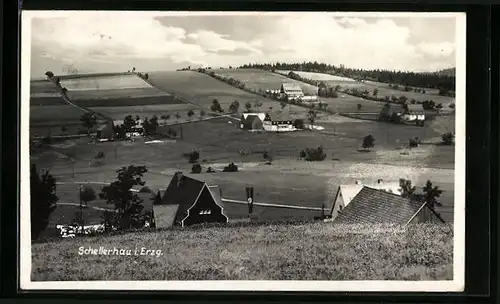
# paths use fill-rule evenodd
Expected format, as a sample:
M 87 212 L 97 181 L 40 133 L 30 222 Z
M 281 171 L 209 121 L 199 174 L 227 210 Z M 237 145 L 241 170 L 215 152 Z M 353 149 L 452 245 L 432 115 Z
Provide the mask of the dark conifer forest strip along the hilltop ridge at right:
M 455 76 L 446 75 L 439 72 L 415 73 L 395 70 L 362 70 L 346 68 L 344 65 L 331 65 L 326 63 L 302 62 L 302 63 L 266 63 L 266 64 L 244 64 L 238 68 L 257 68 L 266 70 L 292 70 L 304 72 L 325 73 L 336 76 L 343 76 L 357 80 L 372 80 L 383 83 L 398 84 L 403 86 L 414 86 L 421 88 L 439 89 L 443 93 L 455 90 Z

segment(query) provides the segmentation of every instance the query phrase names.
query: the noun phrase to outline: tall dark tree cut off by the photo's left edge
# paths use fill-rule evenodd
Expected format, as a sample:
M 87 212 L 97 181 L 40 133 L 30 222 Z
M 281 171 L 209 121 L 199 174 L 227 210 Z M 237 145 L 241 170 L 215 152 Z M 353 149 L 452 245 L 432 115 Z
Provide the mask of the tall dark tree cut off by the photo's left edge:
M 59 198 L 56 195 L 56 180 L 46 171 L 38 174 L 35 165 L 31 166 L 31 239 L 38 238 L 49 224 L 50 214 L 56 209 Z

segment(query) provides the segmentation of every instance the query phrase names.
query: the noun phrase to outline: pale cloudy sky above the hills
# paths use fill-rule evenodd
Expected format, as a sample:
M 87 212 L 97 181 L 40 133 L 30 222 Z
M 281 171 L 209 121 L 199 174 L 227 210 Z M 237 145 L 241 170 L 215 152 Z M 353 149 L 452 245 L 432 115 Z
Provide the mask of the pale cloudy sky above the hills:
M 168 15 L 71 12 L 31 23 L 31 78 L 317 61 L 430 72 L 455 66 L 456 19 L 329 13 Z

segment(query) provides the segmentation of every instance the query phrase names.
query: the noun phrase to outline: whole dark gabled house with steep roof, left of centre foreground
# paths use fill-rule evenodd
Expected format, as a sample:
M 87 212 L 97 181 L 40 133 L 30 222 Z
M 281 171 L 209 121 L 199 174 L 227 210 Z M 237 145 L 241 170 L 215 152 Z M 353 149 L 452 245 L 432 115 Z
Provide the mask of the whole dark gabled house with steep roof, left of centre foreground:
M 157 228 L 199 223 L 227 223 L 217 185 L 175 173 L 161 202 L 153 206 Z

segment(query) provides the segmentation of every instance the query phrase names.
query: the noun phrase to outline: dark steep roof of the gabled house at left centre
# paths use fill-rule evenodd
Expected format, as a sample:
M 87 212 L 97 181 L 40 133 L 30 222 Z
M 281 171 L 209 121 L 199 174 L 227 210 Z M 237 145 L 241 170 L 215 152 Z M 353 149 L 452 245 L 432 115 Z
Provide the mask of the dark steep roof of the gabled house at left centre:
M 215 191 L 213 183 L 194 179 L 177 172 L 163 194 L 161 205 L 178 205 L 175 221 L 180 222 L 186 217 L 187 210 L 193 206 L 205 186 L 214 196 L 216 203 L 219 204 L 219 190 Z

